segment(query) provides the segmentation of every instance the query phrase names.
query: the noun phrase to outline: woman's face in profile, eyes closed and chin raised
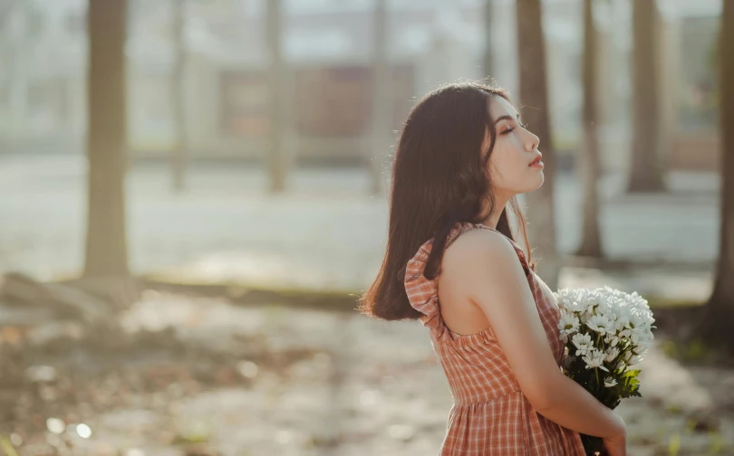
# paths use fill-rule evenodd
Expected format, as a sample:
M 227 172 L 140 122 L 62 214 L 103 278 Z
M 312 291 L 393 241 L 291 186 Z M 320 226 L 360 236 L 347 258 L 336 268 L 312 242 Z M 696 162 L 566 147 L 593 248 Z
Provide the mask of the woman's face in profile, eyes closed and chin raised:
M 543 166 L 530 165 L 540 157 L 537 150 L 540 140 L 524 127 L 517 109 L 509 101 L 492 95 L 488 108 L 497 128 L 495 148 L 489 157 L 492 191 L 511 198 L 536 190 L 546 178 Z M 489 147 L 489 141 L 487 131 L 485 147 Z

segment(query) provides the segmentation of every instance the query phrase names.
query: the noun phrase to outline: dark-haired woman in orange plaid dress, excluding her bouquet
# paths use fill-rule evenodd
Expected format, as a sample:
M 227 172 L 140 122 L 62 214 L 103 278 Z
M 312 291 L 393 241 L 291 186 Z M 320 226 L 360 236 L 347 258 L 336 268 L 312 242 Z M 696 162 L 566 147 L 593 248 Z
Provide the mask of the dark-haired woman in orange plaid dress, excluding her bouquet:
M 559 369 L 560 312 L 516 199 L 543 185 L 537 147 L 507 93 L 478 83 L 431 92 L 401 132 L 387 252 L 361 310 L 429 328 L 454 397 L 440 455 L 583 455 L 579 432 L 625 454 L 622 418 Z

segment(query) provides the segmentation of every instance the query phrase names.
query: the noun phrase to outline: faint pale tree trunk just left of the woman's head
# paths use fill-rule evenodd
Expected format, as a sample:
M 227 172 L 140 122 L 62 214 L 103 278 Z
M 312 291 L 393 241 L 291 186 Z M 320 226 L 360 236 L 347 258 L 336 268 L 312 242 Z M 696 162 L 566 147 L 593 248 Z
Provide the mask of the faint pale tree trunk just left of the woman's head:
M 374 0 L 372 15 L 372 135 L 368 170 L 372 180 L 372 194 L 383 191 L 382 166 L 389 146 L 392 125 L 391 67 L 387 58 L 387 0 Z

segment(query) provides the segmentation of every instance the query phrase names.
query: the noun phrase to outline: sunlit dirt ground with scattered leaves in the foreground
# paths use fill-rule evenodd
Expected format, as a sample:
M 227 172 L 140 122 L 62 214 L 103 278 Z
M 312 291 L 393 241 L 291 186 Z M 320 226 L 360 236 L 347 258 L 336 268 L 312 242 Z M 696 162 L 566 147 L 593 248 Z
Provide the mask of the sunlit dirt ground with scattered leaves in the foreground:
M 439 449 L 451 396 L 418 322 L 147 290 L 121 326 L 2 330 L 0 454 Z M 643 397 L 617 409 L 629 454 L 734 455 L 734 368 L 677 345 L 663 326 L 640 365 Z

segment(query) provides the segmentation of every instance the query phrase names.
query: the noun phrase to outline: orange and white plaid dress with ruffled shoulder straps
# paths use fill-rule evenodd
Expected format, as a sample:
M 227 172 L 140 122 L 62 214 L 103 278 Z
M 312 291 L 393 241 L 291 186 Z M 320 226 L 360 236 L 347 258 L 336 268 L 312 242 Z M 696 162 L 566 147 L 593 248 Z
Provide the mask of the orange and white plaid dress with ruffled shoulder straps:
M 458 223 L 449 233 L 447 247 L 459 234 L 471 229 L 497 231 L 481 224 Z M 526 271 L 548 343 L 561 366 L 564 344 L 558 337 L 560 311 L 555 298 L 546 283 L 527 266 L 525 252 L 517 243 L 507 240 Z M 527 401 L 492 328 L 459 335 L 446 327 L 439 309 L 438 279 L 423 276 L 432 243 L 424 243 L 408 261 L 405 290 L 410 305 L 424 314 L 420 321 L 430 330 L 431 344 L 454 398 L 439 456 L 583 456 L 578 432 L 536 413 Z

